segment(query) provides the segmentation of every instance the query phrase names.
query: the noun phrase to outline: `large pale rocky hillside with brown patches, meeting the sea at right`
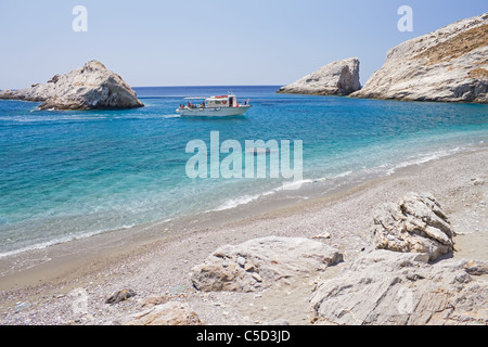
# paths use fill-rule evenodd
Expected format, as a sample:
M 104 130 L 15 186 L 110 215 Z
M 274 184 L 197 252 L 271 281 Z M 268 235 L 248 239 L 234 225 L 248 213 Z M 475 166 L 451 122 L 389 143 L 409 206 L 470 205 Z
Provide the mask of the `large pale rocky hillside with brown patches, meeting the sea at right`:
M 488 13 L 459 21 L 388 51 L 354 98 L 488 102 Z

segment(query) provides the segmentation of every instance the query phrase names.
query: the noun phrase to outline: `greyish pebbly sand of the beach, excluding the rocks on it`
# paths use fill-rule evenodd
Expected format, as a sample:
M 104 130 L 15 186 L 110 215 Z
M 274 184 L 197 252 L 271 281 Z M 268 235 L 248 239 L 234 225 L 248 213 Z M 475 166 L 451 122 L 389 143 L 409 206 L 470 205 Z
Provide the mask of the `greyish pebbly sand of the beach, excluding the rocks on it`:
M 311 324 L 308 296 L 316 277 L 261 293 L 197 292 L 191 269 L 218 246 L 268 236 L 322 240 L 351 261 L 365 247 L 372 211 L 408 192 L 431 192 L 457 232 L 454 257 L 488 260 L 488 147 L 412 165 L 333 193 L 259 204 L 147 224 L 0 259 L 0 324 L 120 324 L 154 301 L 188 303 L 205 324 Z M 137 293 L 104 304 L 123 288 Z M 74 293 L 87 294 L 82 314 Z

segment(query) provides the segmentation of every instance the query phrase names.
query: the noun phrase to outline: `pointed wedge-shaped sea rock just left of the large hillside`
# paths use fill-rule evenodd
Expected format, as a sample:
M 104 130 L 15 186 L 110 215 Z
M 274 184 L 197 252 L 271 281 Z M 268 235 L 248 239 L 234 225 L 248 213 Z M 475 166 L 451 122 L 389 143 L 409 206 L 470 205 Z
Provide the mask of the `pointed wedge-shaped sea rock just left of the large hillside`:
M 319 70 L 280 88 L 279 93 L 348 95 L 361 88 L 359 60 L 350 57 L 321 67 Z

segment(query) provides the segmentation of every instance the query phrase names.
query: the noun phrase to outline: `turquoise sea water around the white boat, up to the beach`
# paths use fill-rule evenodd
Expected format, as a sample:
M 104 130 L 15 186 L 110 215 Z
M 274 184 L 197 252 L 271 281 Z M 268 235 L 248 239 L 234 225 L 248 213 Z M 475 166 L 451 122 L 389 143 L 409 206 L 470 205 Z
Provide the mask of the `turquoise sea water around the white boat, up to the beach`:
M 251 99 L 245 117 L 180 118 L 183 97 Z M 190 140 L 303 140 L 304 182 L 339 184 L 488 140 L 488 106 L 275 94 L 279 87 L 136 88 L 143 108 L 38 111 L 0 101 L 0 255 L 231 208 L 283 179 L 195 179 Z M 223 157 L 224 155 L 221 155 Z

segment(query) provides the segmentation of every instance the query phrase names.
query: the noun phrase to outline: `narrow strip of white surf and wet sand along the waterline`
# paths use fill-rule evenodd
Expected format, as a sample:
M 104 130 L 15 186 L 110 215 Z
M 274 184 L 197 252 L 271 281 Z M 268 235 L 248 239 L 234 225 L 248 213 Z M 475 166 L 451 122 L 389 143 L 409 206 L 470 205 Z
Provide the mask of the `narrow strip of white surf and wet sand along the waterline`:
M 354 189 L 369 181 L 375 181 L 377 179 L 389 177 L 403 168 L 415 167 L 460 153 L 470 153 L 483 147 L 488 147 L 488 145 L 481 142 L 478 144 L 470 144 L 461 151 L 458 146 L 448 151 L 426 152 L 414 159 L 412 159 L 412 157 L 407 157 L 403 162 L 393 164 L 393 166 L 384 164 L 371 168 L 364 167 L 362 171 L 344 171 L 332 177 L 309 178 L 303 179 L 298 182 L 283 182 L 282 185 L 267 188 L 265 191 L 255 193 L 254 195 L 236 195 L 232 198 L 228 198 L 211 209 L 196 213 L 185 213 L 167 219 L 147 221 L 134 226 L 124 226 L 117 229 L 104 229 L 91 232 L 87 231 L 85 233 L 80 233 L 79 235 L 61 236 L 60 239 L 44 241 L 39 244 L 25 246 L 23 248 L 5 250 L 4 253 L 0 253 L 0 279 L 2 275 L 11 272 L 5 269 L 5 266 L 1 265 L 2 259 L 8 260 L 10 258 L 22 257 L 22 255 L 25 254 L 34 254 L 51 247 L 61 247 L 60 245 L 63 244 L 81 242 L 84 239 L 97 237 L 102 234 L 117 233 L 120 236 L 125 236 L 126 233 L 142 233 L 146 230 L 154 229 L 163 229 L 165 231 L 171 229 L 187 230 L 188 228 L 182 226 L 193 228 L 192 224 L 195 222 L 201 222 L 204 227 L 215 227 L 216 223 L 214 220 L 218 220 L 219 223 L 221 223 L 224 220 L 235 220 L 243 216 L 254 216 L 256 215 L 254 211 L 255 209 L 258 209 L 260 213 L 262 209 L 277 209 L 282 206 L 295 205 L 309 198 L 313 200 L 323 195 L 334 195 L 338 192 Z M 284 188 L 285 185 L 298 185 L 298 189 L 286 190 Z M 210 220 L 211 222 L 209 222 Z

